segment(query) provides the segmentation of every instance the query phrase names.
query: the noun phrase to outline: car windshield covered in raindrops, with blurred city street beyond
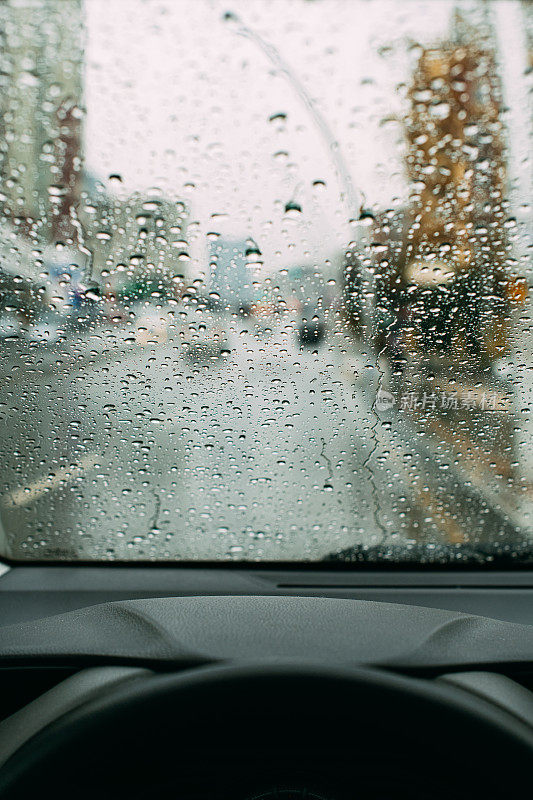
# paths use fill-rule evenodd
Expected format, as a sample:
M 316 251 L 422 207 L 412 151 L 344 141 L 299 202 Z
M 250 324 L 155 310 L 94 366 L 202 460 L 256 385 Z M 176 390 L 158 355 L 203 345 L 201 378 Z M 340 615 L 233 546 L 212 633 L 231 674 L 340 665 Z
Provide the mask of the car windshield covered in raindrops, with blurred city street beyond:
M 533 6 L 0 20 L 0 556 L 531 560 Z

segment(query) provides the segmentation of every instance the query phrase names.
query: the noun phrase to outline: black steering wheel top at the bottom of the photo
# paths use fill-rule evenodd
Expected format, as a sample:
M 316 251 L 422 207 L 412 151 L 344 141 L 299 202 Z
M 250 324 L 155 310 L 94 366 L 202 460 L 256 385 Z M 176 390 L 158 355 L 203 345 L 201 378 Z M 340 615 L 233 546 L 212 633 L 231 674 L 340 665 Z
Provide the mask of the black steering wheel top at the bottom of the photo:
M 2 800 L 520 797 L 532 731 L 439 680 L 286 663 L 148 673 L 26 742 Z M 529 786 L 530 788 L 530 786 Z

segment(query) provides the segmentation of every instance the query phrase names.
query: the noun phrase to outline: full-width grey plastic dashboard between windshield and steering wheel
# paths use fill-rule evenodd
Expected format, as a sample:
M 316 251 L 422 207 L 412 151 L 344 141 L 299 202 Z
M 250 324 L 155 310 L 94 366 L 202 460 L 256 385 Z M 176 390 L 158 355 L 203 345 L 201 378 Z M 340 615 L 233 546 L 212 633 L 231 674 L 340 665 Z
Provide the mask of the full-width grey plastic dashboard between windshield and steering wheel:
M 533 674 L 533 575 L 136 565 L 0 575 L 0 667 L 256 658 Z

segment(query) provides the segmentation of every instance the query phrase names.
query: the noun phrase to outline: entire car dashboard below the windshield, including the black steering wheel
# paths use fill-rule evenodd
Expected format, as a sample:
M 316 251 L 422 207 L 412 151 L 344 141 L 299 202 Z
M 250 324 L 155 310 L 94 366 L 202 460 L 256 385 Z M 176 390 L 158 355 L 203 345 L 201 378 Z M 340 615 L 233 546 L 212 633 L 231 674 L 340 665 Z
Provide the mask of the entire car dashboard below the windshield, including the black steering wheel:
M 2 798 L 528 796 L 527 571 L 28 565 L 0 611 Z

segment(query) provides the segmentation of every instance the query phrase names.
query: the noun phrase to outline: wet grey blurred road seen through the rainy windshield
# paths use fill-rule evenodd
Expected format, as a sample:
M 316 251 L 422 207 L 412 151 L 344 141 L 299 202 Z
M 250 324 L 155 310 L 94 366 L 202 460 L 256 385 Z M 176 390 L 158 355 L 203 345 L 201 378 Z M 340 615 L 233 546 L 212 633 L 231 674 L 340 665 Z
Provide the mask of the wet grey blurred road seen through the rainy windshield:
M 344 336 L 302 350 L 292 330 L 240 321 L 228 349 L 192 361 L 179 342 L 140 346 L 117 329 L 12 353 L 0 390 L 11 555 L 317 559 L 422 531 L 461 542 L 485 524 L 471 498 L 461 516 L 449 459 L 432 461 L 402 415 L 372 410 L 376 370 Z

